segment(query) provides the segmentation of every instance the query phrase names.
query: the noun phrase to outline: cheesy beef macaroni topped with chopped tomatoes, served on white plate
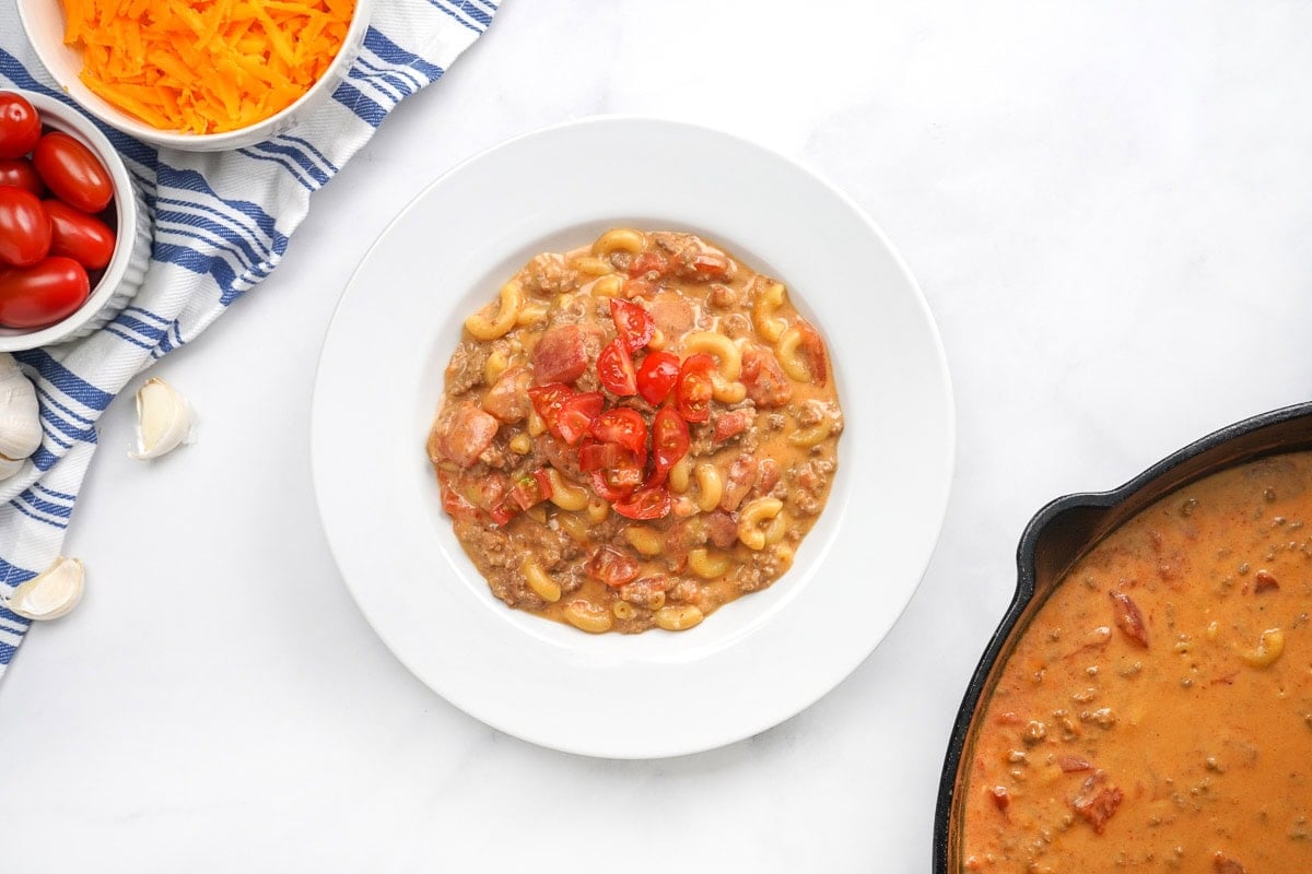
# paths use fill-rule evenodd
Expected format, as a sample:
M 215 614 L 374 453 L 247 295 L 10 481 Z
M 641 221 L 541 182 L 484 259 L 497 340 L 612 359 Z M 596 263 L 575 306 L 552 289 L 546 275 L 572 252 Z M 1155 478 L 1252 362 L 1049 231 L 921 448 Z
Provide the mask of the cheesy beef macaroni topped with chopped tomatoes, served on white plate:
M 428 438 L 492 592 L 682 630 L 765 588 L 829 494 L 842 413 L 785 286 L 689 233 L 541 254 L 464 322 Z

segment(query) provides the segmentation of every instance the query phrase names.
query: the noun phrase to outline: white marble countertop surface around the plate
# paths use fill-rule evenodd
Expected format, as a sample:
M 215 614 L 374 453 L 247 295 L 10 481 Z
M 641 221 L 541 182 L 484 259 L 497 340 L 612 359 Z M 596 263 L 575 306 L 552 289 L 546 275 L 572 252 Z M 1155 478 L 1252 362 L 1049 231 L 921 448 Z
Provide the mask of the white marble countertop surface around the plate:
M 1300 4 L 508 0 L 156 368 L 199 442 L 140 465 L 131 400 L 104 417 L 66 544 L 85 600 L 0 683 L 0 866 L 928 871 L 1030 515 L 1312 392 L 1309 31 Z M 415 680 L 341 583 L 307 457 L 324 329 L 387 221 L 600 113 L 711 124 L 848 191 L 916 273 L 958 411 L 942 540 L 884 643 L 783 725 L 664 761 L 537 748 Z

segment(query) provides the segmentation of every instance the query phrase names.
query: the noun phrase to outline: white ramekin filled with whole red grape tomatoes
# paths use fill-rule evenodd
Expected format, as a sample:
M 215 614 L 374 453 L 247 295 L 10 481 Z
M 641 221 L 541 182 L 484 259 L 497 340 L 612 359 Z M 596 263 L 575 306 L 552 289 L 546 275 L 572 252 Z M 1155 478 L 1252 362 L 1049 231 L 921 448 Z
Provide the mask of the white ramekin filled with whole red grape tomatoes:
M 0 90 L 0 351 L 85 337 L 140 288 L 151 225 L 104 134 L 76 109 Z

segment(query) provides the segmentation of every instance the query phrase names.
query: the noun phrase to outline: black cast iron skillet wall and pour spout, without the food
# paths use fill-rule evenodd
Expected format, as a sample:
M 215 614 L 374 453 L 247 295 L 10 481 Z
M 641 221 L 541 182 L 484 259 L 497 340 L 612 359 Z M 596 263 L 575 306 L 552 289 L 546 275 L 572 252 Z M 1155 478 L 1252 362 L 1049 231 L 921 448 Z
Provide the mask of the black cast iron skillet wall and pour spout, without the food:
M 972 717 L 987 701 L 997 675 L 1030 618 L 1067 570 L 1118 525 L 1162 495 L 1218 470 L 1265 455 L 1312 448 L 1312 402 L 1254 415 L 1186 446 L 1111 491 L 1057 498 L 1026 525 L 1017 548 L 1015 596 L 980 658 L 956 712 L 947 744 L 934 815 L 934 874 L 960 874 L 958 793 L 974 743 Z

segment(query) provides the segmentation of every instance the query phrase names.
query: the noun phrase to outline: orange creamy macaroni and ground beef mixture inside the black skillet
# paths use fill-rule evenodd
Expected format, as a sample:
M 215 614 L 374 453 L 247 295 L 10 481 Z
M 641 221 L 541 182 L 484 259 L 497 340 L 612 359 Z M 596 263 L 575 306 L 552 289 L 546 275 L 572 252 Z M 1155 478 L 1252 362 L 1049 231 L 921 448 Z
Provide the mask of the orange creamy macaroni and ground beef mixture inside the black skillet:
M 976 713 L 960 870 L 1312 871 L 1312 453 L 1080 560 Z

